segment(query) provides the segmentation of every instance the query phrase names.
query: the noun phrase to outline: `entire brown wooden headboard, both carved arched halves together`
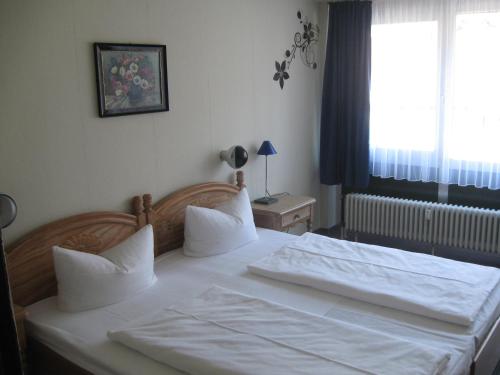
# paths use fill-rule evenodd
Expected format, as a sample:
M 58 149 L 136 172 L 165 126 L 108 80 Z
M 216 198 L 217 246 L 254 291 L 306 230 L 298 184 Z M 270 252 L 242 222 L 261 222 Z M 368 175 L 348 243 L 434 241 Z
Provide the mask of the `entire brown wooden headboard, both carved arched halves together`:
M 134 197 L 132 214 L 91 212 L 44 225 L 7 249 L 7 272 L 14 303 L 27 306 L 57 294 L 52 247 L 99 254 L 122 242 L 146 224 L 155 231 L 155 255 L 182 246 L 187 205 L 213 207 L 237 194 L 244 186 L 209 182 L 181 189 L 156 204 L 150 194 Z

